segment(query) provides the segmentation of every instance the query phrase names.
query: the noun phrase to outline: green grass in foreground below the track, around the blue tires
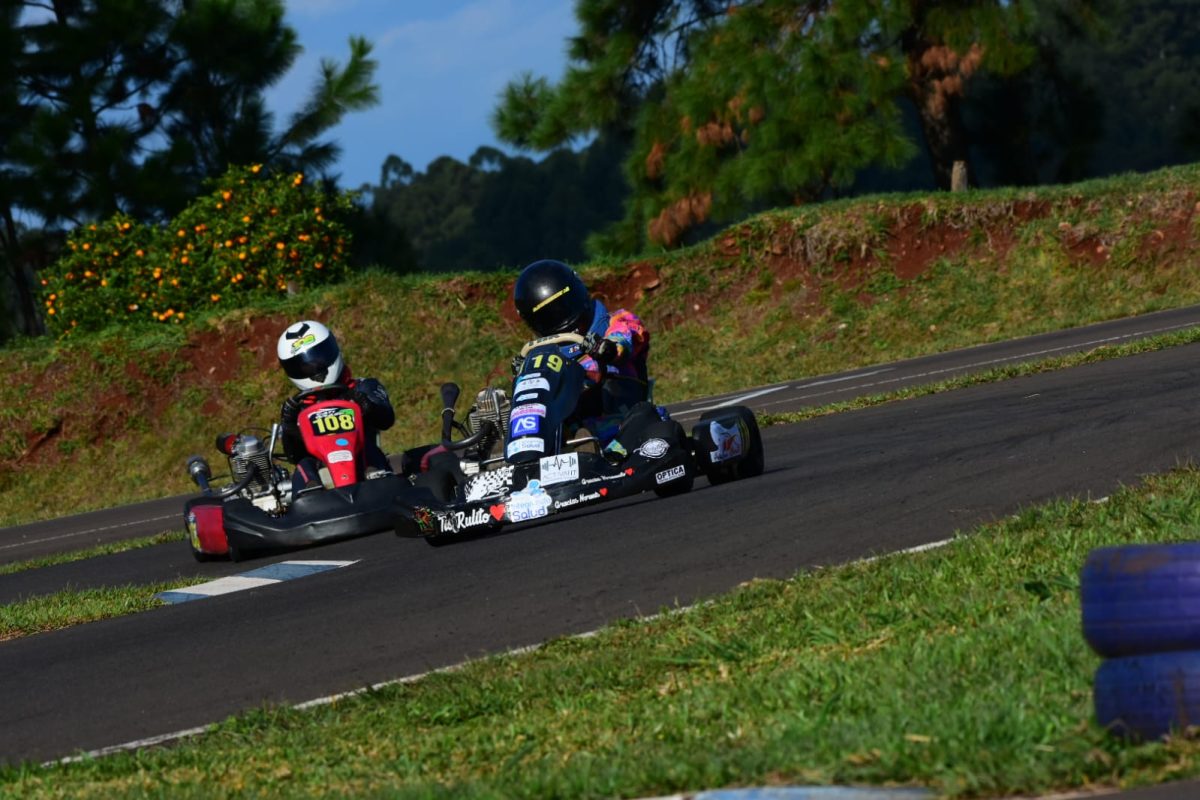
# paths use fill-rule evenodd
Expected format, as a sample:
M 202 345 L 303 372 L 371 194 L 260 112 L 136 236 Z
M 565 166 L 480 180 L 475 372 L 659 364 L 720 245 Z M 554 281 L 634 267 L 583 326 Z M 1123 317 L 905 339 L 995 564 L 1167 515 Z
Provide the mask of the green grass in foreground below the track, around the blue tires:
M 1092 720 L 1088 551 L 1195 539 L 1200 471 L 1032 507 L 931 552 L 756 581 L 680 613 L 163 750 L 8 768 L 22 798 L 610 798 L 924 786 L 943 796 L 1200 775 L 1200 741 Z

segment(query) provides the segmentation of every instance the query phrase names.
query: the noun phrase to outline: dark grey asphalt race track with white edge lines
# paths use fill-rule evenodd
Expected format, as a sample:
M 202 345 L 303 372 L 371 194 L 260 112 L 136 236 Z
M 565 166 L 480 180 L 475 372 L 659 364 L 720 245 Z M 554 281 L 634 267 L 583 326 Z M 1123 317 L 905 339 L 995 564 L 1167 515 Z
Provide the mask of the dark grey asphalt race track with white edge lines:
M 1073 333 L 1087 341 L 1195 324 L 1196 309 L 1184 312 Z M 1066 342 L 1034 343 L 1080 349 Z M 1009 355 L 1031 343 L 1010 344 Z M 772 409 L 782 410 L 838 399 L 806 397 L 838 383 L 886 391 L 877 384 L 905 369 L 934 373 L 929 380 L 954 374 L 954 363 L 1007 357 L 1002 345 L 989 348 L 889 365 L 829 389 L 787 384 L 748 402 L 786 399 Z M 44 760 L 264 702 L 350 691 L 689 604 L 752 577 L 942 540 L 1052 497 L 1103 497 L 1193 457 L 1198 379 L 1200 345 L 1188 345 L 773 427 L 763 432 L 767 471 L 751 481 L 700 481 L 680 498 L 634 499 L 438 549 L 390 535 L 342 542 L 305 555 L 358 564 L 0 643 L 0 760 Z M 12 530 L 0 543 L 13 543 Z M 53 541 L 73 539 L 82 537 Z M 0 577 L 0 602 L 64 583 L 245 569 L 196 565 L 176 542 Z

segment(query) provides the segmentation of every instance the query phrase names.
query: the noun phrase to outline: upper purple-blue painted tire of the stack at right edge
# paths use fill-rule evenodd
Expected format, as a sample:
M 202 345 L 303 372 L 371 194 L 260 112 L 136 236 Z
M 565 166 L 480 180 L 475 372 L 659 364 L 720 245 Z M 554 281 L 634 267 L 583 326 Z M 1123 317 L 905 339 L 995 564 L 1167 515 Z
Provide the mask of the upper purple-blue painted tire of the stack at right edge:
M 1200 542 L 1094 549 L 1079 593 L 1084 638 L 1104 657 L 1200 650 Z

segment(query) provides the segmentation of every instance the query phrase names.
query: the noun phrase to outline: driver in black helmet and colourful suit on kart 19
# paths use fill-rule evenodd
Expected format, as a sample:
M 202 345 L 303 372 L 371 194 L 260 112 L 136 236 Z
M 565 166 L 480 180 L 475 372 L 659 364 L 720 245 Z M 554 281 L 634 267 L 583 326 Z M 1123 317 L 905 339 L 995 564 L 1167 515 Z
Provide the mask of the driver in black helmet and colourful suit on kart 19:
M 650 335 L 630 311 L 610 312 L 588 294 L 578 273 L 562 261 L 544 259 L 521 271 L 512 290 L 521 319 L 539 337 L 578 333 L 582 345 L 563 345 L 563 355 L 580 362 L 587 386 L 572 421 L 588 428 L 602 445 L 617 435 L 624 415 L 649 395 L 646 359 Z M 522 359 L 512 360 L 512 373 Z M 648 404 L 647 404 L 648 405 Z

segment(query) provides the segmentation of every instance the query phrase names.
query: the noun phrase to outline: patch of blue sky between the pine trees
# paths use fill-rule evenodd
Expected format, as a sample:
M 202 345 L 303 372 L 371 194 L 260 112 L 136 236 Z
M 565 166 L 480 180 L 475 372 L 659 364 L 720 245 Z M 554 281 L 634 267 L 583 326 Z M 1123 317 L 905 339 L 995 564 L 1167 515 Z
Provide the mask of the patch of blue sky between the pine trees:
M 466 161 L 480 145 L 499 146 L 488 116 L 509 80 L 526 70 L 562 77 L 572 7 L 570 0 L 287 0 L 305 52 L 268 104 L 282 127 L 320 60 L 344 62 L 347 40 L 366 36 L 379 62 L 380 103 L 347 115 L 331 133 L 342 145 L 332 170 L 342 186 L 377 184 L 389 154 L 422 172 L 438 156 Z

